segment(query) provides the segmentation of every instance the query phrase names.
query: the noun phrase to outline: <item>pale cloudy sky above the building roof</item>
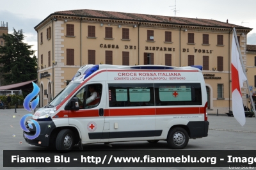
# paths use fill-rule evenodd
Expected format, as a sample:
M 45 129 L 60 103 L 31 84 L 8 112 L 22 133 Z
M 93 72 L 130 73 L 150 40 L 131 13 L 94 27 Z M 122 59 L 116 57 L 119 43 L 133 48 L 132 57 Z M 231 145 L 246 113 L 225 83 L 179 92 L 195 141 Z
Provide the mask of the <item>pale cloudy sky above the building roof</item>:
M 256 0 L 0 0 L 0 21 L 8 22 L 8 33 L 24 31 L 24 42 L 37 50 L 34 27 L 51 13 L 65 10 L 104 10 L 112 12 L 214 19 L 253 30 L 247 35 L 247 44 L 256 45 Z M 36 54 L 36 53 L 35 53 Z

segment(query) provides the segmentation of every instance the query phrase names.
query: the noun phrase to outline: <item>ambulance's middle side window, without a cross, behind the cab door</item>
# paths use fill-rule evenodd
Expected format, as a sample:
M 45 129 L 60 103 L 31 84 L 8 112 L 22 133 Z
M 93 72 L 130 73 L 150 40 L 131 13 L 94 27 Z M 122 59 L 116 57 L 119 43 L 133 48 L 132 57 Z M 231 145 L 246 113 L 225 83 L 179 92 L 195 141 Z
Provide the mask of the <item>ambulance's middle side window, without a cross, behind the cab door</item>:
M 154 84 L 109 84 L 109 107 L 154 106 Z

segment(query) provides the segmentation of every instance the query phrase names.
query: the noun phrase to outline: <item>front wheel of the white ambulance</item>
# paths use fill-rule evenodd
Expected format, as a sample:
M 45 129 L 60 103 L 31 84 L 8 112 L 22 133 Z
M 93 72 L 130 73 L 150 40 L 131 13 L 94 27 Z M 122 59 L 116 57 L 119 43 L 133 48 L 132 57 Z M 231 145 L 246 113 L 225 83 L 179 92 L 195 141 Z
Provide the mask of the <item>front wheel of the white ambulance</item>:
M 74 145 L 74 133 L 70 129 L 63 129 L 56 138 L 56 150 L 67 152 L 72 150 Z

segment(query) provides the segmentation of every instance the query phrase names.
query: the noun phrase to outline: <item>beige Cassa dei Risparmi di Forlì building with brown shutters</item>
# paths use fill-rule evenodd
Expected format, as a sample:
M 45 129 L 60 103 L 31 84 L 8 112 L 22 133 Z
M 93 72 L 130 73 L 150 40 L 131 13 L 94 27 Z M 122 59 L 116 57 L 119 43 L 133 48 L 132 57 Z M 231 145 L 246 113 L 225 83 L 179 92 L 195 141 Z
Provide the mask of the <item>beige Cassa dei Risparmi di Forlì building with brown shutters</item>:
M 207 112 L 228 112 L 234 26 L 228 21 L 96 10 L 52 13 L 35 27 L 40 107 L 58 95 L 83 65 L 202 65 Z M 246 65 L 246 35 L 252 29 L 235 27 Z M 244 105 L 246 94 L 243 88 Z

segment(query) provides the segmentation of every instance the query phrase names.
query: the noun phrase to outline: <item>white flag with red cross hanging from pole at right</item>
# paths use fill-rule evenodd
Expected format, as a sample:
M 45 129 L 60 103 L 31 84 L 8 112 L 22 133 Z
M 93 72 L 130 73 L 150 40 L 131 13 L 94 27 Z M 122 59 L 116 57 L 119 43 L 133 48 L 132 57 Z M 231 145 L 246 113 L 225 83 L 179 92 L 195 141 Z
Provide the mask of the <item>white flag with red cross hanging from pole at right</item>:
M 245 114 L 243 108 L 243 100 L 241 88 L 243 82 L 246 81 L 239 54 L 236 46 L 236 39 L 234 33 L 232 36 L 232 50 L 231 50 L 231 76 L 232 76 L 232 112 L 236 120 L 241 126 L 245 124 Z

